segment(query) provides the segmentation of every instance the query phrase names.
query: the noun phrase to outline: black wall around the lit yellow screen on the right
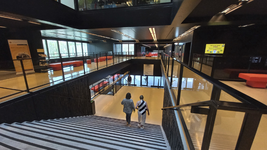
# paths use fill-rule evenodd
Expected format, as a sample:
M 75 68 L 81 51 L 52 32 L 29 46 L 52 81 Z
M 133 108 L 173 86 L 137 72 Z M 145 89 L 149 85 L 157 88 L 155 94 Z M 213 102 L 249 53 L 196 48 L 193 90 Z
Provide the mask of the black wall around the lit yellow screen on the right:
M 206 44 L 225 43 L 223 57 L 267 55 L 265 27 L 203 27 L 194 31 L 192 53 L 204 54 Z

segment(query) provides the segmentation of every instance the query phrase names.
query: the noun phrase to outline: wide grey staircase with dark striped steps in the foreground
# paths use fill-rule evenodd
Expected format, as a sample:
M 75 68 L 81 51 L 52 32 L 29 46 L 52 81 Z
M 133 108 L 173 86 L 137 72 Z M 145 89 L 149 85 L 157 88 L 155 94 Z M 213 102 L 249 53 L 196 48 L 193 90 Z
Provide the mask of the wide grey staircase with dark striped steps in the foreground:
M 169 149 L 159 125 L 145 129 L 126 121 L 100 116 L 1 124 L 0 150 L 8 149 Z

